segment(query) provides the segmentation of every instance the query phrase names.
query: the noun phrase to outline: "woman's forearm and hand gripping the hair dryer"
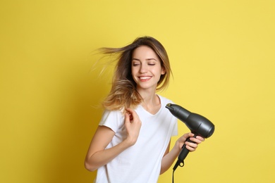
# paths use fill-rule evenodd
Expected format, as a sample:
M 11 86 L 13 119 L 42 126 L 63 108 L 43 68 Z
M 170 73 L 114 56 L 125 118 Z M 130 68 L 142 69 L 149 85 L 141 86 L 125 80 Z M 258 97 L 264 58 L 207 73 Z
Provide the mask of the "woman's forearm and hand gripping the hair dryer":
M 197 145 L 202 143 L 204 141 L 204 138 L 197 136 L 196 138 L 193 137 L 193 133 L 187 133 L 183 134 L 177 141 L 175 146 L 173 146 L 173 149 L 169 152 L 170 143 L 169 146 L 166 149 L 166 152 L 164 153 L 164 157 L 161 160 L 161 172 L 160 174 L 166 172 L 171 165 L 173 164 L 174 160 L 178 157 L 178 154 L 181 152 L 181 149 L 183 147 L 183 144 L 186 144 L 186 149 L 189 151 L 195 151 L 197 149 Z M 195 143 L 186 141 L 190 137 L 191 141 L 194 141 Z

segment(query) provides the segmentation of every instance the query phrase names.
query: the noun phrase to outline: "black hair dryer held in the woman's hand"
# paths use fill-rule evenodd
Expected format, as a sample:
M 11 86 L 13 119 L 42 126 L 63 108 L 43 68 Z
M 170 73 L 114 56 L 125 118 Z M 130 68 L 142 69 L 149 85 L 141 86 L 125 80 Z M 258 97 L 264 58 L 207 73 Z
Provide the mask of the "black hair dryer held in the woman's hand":
M 199 135 L 200 137 L 208 138 L 212 136 L 215 130 L 214 124 L 207 120 L 207 118 L 204 118 L 202 115 L 191 113 L 190 111 L 187 111 L 185 108 L 178 106 L 173 103 L 168 103 L 166 105 L 166 108 L 169 109 L 169 111 L 179 120 L 185 123 L 185 125 L 191 130 L 195 136 Z M 187 141 L 190 141 L 188 138 Z M 192 141 L 190 141 L 192 142 Z M 183 160 L 188 155 L 189 150 L 186 149 L 185 144 L 183 145 L 183 149 L 181 149 L 181 153 L 178 155 L 178 161 L 176 162 L 175 166 L 173 167 L 173 170 L 176 170 L 178 165 L 183 167 L 184 162 Z

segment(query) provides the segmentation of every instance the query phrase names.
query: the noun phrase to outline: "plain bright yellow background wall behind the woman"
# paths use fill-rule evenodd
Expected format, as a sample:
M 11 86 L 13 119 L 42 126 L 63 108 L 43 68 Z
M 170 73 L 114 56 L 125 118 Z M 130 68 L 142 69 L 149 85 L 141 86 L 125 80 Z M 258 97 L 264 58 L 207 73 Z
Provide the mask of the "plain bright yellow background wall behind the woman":
M 216 125 L 175 182 L 275 182 L 275 1 L 1 0 L 0 18 L 0 182 L 92 182 L 112 72 L 93 51 L 143 35 L 169 53 L 160 94 Z

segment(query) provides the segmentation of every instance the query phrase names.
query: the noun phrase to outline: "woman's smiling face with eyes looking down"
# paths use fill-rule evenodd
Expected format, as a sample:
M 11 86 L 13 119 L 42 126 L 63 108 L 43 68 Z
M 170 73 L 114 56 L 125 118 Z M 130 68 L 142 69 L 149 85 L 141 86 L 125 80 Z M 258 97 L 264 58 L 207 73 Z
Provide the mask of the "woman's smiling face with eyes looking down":
M 165 73 L 159 56 L 149 46 L 140 46 L 133 51 L 131 71 L 138 91 L 140 89 L 155 91 L 159 78 Z

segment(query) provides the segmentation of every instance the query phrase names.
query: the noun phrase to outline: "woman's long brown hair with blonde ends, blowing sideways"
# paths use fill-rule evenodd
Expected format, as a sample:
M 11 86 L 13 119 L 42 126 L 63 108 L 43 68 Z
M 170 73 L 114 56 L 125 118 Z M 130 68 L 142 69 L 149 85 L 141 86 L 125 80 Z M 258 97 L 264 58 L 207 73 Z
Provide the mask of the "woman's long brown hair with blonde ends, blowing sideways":
M 107 110 L 123 110 L 125 108 L 136 108 L 143 99 L 136 89 L 136 83 L 131 75 L 131 64 L 133 51 L 140 46 L 149 46 L 161 61 L 161 67 L 166 72 L 161 75 L 157 83 L 157 91 L 165 89 L 169 84 L 171 68 L 169 57 L 164 46 L 153 37 L 138 37 L 132 44 L 121 48 L 101 48 L 100 52 L 104 54 L 115 54 L 117 63 L 115 67 L 114 77 L 112 80 L 111 91 L 102 106 Z M 124 111 L 124 110 L 123 110 Z

